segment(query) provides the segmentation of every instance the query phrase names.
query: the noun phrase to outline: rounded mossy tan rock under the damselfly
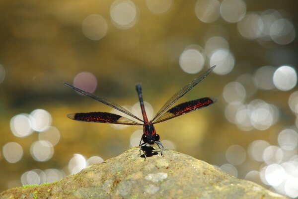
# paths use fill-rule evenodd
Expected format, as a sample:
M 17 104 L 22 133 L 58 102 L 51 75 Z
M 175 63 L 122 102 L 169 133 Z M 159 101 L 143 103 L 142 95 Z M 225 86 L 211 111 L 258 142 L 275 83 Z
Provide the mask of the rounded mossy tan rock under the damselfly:
M 285 199 L 191 156 L 148 153 L 145 160 L 134 147 L 58 182 L 4 191 L 0 199 Z

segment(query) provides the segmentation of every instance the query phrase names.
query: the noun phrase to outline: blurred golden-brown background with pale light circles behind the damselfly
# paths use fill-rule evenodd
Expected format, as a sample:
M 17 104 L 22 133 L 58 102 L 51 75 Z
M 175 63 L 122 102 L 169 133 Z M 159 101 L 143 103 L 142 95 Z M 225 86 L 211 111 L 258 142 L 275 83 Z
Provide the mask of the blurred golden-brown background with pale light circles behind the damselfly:
M 142 117 L 135 91 L 141 82 L 152 118 L 176 91 L 217 65 L 176 104 L 218 101 L 156 124 L 161 142 L 297 198 L 297 4 L 1 1 L 0 191 L 59 180 L 139 144 L 142 126 L 67 118 L 118 112 L 63 82 Z

